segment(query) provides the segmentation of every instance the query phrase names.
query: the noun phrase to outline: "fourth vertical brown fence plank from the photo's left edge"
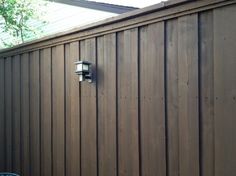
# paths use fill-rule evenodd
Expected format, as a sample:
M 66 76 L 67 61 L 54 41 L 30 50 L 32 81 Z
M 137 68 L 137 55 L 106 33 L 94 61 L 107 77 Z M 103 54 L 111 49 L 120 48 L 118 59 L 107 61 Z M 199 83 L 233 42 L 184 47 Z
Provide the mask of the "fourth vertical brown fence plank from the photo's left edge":
M 30 176 L 29 54 L 21 55 L 21 174 Z

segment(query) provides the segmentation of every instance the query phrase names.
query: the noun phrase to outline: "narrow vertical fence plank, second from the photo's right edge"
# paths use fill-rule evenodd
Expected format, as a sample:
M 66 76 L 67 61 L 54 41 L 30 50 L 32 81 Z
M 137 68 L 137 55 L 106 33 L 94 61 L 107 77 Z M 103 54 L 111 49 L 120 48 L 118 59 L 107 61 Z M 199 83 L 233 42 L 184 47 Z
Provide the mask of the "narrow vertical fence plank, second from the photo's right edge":
M 201 175 L 214 176 L 213 14 L 200 14 Z

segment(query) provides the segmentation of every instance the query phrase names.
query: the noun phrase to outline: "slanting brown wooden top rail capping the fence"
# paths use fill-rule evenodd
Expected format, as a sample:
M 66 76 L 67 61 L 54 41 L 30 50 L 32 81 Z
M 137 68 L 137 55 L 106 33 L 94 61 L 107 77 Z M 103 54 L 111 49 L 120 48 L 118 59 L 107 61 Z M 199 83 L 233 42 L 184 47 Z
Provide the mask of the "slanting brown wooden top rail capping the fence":
M 96 23 L 60 32 L 12 48 L 0 50 L 0 58 L 22 54 L 72 41 L 83 40 L 133 27 L 236 3 L 236 0 L 170 0 L 134 10 Z

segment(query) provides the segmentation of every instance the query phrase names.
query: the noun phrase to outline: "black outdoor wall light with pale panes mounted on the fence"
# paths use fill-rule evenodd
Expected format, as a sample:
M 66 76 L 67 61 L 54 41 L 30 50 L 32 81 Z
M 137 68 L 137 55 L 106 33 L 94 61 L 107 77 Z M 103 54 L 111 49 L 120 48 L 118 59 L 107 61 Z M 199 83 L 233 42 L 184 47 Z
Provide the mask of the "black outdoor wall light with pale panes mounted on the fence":
M 75 73 L 79 75 L 79 82 L 88 81 L 92 82 L 92 64 L 88 61 L 75 62 L 76 70 Z

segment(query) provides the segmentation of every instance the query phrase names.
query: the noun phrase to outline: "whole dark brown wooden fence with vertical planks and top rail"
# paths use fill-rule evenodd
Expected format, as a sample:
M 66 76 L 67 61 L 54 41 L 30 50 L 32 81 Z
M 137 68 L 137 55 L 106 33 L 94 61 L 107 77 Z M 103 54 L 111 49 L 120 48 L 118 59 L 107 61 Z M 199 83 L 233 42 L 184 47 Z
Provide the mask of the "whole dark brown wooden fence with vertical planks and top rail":
M 170 1 L 0 57 L 0 171 L 235 176 L 235 0 Z

